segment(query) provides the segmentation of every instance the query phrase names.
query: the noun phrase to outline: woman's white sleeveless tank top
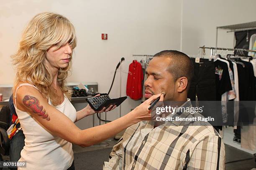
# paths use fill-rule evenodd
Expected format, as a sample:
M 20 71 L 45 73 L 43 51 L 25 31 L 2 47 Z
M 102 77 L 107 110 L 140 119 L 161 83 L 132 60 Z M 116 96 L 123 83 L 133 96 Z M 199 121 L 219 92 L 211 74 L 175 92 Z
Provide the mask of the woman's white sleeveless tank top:
M 20 84 L 15 92 L 14 106 L 25 135 L 25 146 L 20 153 L 21 158 L 19 161 L 26 161 L 27 164 L 26 168 L 18 169 L 67 170 L 74 160 L 72 143 L 53 135 L 35 118 L 31 117 L 30 113 L 21 111 L 16 107 L 16 93 L 23 85 L 32 86 L 38 90 L 36 86 L 24 83 Z M 51 105 L 50 100 L 49 104 Z M 77 112 L 65 95 L 64 102 L 54 107 L 73 122 L 76 120 Z

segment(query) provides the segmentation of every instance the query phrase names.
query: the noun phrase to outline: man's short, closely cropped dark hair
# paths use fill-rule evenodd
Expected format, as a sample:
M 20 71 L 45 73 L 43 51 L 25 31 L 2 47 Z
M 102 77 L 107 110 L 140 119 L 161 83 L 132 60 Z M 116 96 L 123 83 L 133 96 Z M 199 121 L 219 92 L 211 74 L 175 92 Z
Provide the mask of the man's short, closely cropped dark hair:
M 156 53 L 154 57 L 169 57 L 171 62 L 167 69 L 174 76 L 174 81 L 179 77 L 187 77 L 187 90 L 189 89 L 194 75 L 194 66 L 189 56 L 176 50 L 164 50 Z

